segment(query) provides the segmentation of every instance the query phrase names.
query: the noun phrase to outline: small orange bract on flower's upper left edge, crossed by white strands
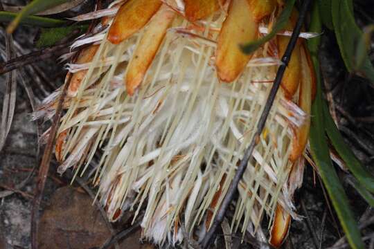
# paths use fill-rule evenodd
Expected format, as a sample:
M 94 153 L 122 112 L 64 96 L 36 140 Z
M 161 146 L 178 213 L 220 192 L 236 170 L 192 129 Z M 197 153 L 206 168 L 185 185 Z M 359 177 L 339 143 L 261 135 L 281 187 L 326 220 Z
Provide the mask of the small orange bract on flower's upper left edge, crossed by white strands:
M 99 45 L 91 45 L 88 48 L 84 48 L 77 59 L 77 64 L 84 64 L 91 62 L 92 59 L 94 59 L 94 56 L 96 55 L 96 52 L 98 51 Z M 71 76 L 71 82 L 69 84 L 69 89 L 67 91 L 67 95 L 69 97 L 74 97 L 78 93 L 78 89 L 80 87 L 80 84 L 82 83 L 82 80 L 84 79 L 84 76 L 86 76 L 88 70 L 82 70 L 78 71 L 76 73 L 73 73 L 73 76 Z M 66 79 L 69 78 L 69 75 L 66 76 Z

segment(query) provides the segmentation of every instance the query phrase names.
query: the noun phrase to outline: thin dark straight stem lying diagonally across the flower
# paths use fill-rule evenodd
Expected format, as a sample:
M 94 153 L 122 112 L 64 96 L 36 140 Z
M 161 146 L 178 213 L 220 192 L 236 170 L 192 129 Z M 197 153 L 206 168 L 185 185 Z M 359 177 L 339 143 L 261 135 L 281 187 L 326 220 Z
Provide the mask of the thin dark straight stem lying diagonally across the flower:
M 254 147 L 256 147 L 257 142 L 259 140 L 260 134 L 262 133 L 262 129 L 265 127 L 265 122 L 267 120 L 267 116 L 269 116 L 269 112 L 271 109 L 271 106 L 273 105 L 273 102 L 276 98 L 276 93 L 279 89 L 279 86 L 281 86 L 281 80 L 283 77 L 283 74 L 285 73 L 285 69 L 287 68 L 288 62 L 290 62 L 290 57 L 292 55 L 292 50 L 294 50 L 294 46 L 296 45 L 296 41 L 299 37 L 299 34 L 301 32 L 301 27 L 303 26 L 303 20 L 305 17 L 305 13 L 308 9 L 310 0 L 303 1 L 299 19 L 297 20 L 296 26 L 294 28 L 294 31 L 292 33 L 292 37 L 290 39 L 290 42 L 287 45 L 287 48 L 285 50 L 285 54 L 283 55 L 281 61 L 283 64 L 279 66 L 278 71 L 276 73 L 276 78 L 274 80 L 273 86 L 271 86 L 271 90 L 269 93 L 269 97 L 267 98 L 267 102 L 265 104 L 265 108 L 261 113 L 260 120 L 256 127 L 256 133 L 254 133 L 253 138 L 251 140 L 251 143 L 249 144 L 249 147 L 245 151 L 245 154 L 240 161 L 240 165 L 238 167 L 238 170 L 235 173 L 235 176 L 233 177 L 233 181 L 230 184 L 229 190 L 227 190 L 226 196 L 224 196 L 224 199 L 222 201 L 222 204 L 220 206 L 220 209 L 217 211 L 217 215 L 215 216 L 215 219 L 211 225 L 211 228 L 206 232 L 206 235 L 204 239 L 202 240 L 201 246 L 202 248 L 208 248 L 209 243 L 211 242 L 211 239 L 213 239 L 214 235 L 216 234 L 216 230 L 218 226 L 222 223 L 222 220 L 224 219 L 224 214 L 226 213 L 227 208 L 229 208 L 229 204 L 233 200 L 233 196 L 238 190 L 238 184 L 240 180 L 242 179 L 242 176 L 244 174 L 245 169 L 247 168 L 247 164 L 249 161 L 249 158 L 251 157 L 253 153 Z

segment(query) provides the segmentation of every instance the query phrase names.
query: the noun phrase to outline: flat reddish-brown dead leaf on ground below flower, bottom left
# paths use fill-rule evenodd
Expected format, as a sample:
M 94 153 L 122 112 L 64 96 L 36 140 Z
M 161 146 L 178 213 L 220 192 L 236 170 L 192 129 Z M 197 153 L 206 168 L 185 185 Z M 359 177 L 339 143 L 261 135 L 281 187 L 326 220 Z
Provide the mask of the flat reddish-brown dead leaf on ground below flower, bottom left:
M 73 187 L 56 190 L 39 222 L 39 249 L 88 249 L 111 237 L 92 199 Z

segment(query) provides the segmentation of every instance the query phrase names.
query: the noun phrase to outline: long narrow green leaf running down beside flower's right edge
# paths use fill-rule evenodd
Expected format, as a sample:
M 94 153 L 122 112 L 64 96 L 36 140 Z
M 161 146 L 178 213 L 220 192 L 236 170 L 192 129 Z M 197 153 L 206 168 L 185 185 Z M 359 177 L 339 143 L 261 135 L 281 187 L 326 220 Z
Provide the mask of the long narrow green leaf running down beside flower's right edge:
M 310 32 L 321 33 L 321 18 L 319 17 L 319 7 L 314 4 L 312 12 L 312 20 Z M 312 104 L 312 122 L 310 127 L 310 150 L 312 157 L 317 165 L 319 174 L 323 184 L 326 186 L 328 195 L 332 201 L 332 205 L 337 212 L 337 216 L 341 226 L 346 233 L 348 243 L 351 248 L 364 249 L 364 243 L 361 239 L 357 222 L 350 210 L 348 198 L 344 192 L 344 188 L 339 181 L 337 172 L 335 171 L 328 150 L 328 143 L 325 135 L 325 120 L 323 118 L 323 101 L 321 89 L 321 75 L 319 72 L 319 61 L 317 52 L 319 48 L 319 40 L 310 39 L 308 46 L 312 51 L 312 61 L 317 77 L 317 95 Z

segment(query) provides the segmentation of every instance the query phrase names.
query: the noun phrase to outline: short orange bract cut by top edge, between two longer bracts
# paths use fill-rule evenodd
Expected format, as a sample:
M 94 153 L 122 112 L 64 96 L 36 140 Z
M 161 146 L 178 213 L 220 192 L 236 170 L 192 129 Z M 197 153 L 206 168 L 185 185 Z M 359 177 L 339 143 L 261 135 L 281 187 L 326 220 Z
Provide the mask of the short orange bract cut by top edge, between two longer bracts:
M 217 0 L 185 0 L 184 12 L 188 21 L 197 21 L 213 14 L 220 8 Z

